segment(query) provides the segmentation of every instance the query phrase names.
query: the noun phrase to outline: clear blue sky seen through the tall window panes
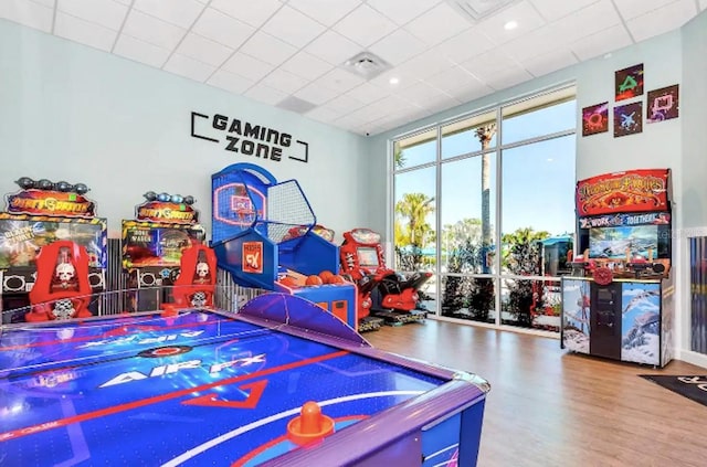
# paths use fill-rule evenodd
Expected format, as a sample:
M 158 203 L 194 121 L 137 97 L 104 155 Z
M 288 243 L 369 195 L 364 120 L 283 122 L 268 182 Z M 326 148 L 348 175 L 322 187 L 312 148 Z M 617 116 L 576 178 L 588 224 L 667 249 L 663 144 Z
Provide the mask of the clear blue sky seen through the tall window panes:
M 504 121 L 503 139 L 520 141 L 576 126 L 576 100 L 524 114 Z M 495 144 L 495 139 L 493 141 Z M 468 131 L 445 137 L 445 155 L 481 149 Z M 405 167 L 436 157 L 434 141 L 404 149 Z M 574 135 L 505 149 L 503 152 L 503 232 L 520 227 L 552 235 L 574 232 Z M 492 159 L 492 204 L 497 195 L 495 156 Z M 404 193 L 435 197 L 434 168 L 395 176 L 395 202 Z M 442 225 L 465 217 L 481 219 L 481 156 L 442 164 Z M 439 200 L 437 200 L 439 201 Z M 440 203 L 436 203 L 440 206 Z M 492 206 L 492 217 L 494 215 Z M 428 222 L 434 226 L 434 217 Z M 495 217 L 492 219 L 495 223 Z

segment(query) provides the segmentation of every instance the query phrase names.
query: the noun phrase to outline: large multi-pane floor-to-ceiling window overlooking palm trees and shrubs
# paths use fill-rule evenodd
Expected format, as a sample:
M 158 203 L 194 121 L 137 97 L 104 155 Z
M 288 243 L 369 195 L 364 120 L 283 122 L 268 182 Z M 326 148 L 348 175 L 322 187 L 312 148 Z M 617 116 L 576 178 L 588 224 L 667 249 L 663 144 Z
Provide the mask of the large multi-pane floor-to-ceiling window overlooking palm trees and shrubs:
M 395 268 L 431 314 L 559 330 L 574 214 L 574 88 L 393 141 Z

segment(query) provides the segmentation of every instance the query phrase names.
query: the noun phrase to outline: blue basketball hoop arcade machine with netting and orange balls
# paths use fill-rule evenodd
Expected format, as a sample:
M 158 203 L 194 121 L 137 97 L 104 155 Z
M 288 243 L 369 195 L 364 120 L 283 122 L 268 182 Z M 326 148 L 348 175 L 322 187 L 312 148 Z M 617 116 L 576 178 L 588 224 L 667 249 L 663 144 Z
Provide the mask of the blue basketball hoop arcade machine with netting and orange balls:
M 212 193 L 211 246 L 233 282 L 306 298 L 357 329 L 356 286 L 338 276 L 338 246 L 317 234 L 296 180 L 235 163 L 212 176 Z

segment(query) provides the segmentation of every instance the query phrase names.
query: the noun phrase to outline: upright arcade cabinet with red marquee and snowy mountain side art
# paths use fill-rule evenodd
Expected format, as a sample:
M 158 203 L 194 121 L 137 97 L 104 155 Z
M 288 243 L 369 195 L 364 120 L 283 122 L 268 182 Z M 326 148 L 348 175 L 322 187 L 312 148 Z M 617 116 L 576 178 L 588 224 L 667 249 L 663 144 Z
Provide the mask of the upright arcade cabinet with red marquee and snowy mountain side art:
M 672 360 L 671 202 L 668 169 L 577 183 L 579 254 L 562 277 L 562 348 L 654 367 Z

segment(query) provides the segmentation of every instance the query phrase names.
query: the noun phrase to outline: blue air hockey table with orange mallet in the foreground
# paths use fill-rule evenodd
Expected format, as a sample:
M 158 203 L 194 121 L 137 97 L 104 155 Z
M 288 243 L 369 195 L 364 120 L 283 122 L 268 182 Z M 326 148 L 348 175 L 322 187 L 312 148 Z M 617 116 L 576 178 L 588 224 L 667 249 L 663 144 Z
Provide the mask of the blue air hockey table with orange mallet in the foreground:
M 291 295 L 7 325 L 0 465 L 467 467 L 488 389 Z

